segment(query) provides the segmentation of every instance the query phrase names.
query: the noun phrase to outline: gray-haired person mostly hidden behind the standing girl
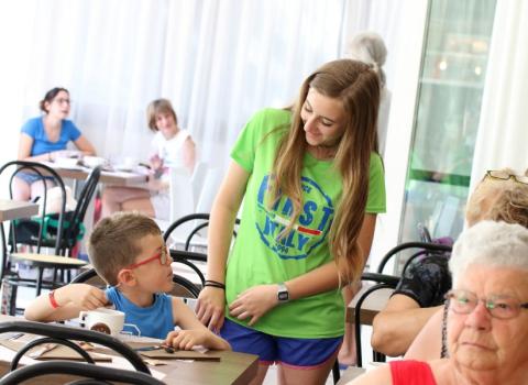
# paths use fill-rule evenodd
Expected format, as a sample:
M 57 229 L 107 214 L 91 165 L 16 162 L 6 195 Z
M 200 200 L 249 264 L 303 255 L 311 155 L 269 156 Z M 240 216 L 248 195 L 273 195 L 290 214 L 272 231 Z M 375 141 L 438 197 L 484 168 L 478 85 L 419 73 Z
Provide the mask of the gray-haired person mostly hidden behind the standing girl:
M 385 153 L 387 138 L 388 112 L 391 108 L 391 91 L 386 87 L 386 76 L 383 66 L 387 58 L 387 47 L 377 33 L 364 31 L 355 34 L 346 44 L 344 57 L 370 64 L 380 75 L 382 95 L 377 116 L 377 143 L 380 155 Z

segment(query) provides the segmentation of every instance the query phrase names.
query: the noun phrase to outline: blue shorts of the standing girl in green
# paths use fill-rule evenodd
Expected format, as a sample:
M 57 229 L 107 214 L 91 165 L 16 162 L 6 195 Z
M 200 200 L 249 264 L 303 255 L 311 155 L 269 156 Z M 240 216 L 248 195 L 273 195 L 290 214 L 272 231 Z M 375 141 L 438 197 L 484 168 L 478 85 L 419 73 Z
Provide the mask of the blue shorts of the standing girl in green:
M 220 336 L 229 341 L 235 352 L 258 355 L 261 364 L 273 363 L 310 369 L 326 363 L 343 342 L 337 338 L 275 337 L 243 327 L 226 318 Z

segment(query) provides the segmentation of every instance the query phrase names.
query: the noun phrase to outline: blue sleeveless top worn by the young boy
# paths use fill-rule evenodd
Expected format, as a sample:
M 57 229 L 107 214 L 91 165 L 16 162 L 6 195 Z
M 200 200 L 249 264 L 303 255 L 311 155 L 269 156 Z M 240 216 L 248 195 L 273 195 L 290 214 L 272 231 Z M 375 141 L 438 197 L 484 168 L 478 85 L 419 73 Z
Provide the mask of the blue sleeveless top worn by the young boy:
M 124 312 L 124 323 L 135 324 L 142 337 L 152 337 L 164 340 L 168 332 L 174 330 L 173 301 L 170 296 L 164 293 L 154 295 L 154 302 L 142 308 L 132 304 L 116 287 L 109 287 L 105 292 L 109 301 L 113 304 L 116 310 Z M 127 332 L 138 334 L 133 327 L 125 326 Z

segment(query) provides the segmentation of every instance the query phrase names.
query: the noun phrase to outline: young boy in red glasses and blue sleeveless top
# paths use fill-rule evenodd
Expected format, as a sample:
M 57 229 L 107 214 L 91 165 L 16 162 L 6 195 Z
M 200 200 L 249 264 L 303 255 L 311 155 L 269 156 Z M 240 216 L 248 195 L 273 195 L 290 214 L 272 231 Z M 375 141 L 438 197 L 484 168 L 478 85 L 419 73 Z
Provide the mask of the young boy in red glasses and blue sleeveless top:
M 32 321 L 76 318 L 80 310 L 114 305 L 135 324 L 141 336 L 165 339 L 167 345 L 229 350 L 179 298 L 173 288 L 170 255 L 157 224 L 148 217 L 120 212 L 101 220 L 90 235 L 90 262 L 110 287 L 105 292 L 87 284 L 70 284 L 35 298 L 24 317 Z M 175 331 L 174 326 L 183 330 Z

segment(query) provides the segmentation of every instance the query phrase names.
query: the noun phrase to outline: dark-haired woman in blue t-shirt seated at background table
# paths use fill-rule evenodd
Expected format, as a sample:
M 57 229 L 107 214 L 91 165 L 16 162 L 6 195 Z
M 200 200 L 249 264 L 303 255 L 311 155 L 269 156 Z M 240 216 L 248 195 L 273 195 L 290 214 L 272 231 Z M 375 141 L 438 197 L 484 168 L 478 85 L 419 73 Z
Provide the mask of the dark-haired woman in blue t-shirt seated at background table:
M 91 143 L 81 134 L 69 114 L 70 99 L 66 88 L 55 87 L 46 92 L 40 102 L 42 117 L 30 119 L 21 129 L 19 161 L 54 161 L 70 155 L 66 146 L 74 142 L 85 155 L 95 155 Z M 42 194 L 38 177 L 30 173 L 19 173 L 14 179 L 13 198 L 28 200 Z

